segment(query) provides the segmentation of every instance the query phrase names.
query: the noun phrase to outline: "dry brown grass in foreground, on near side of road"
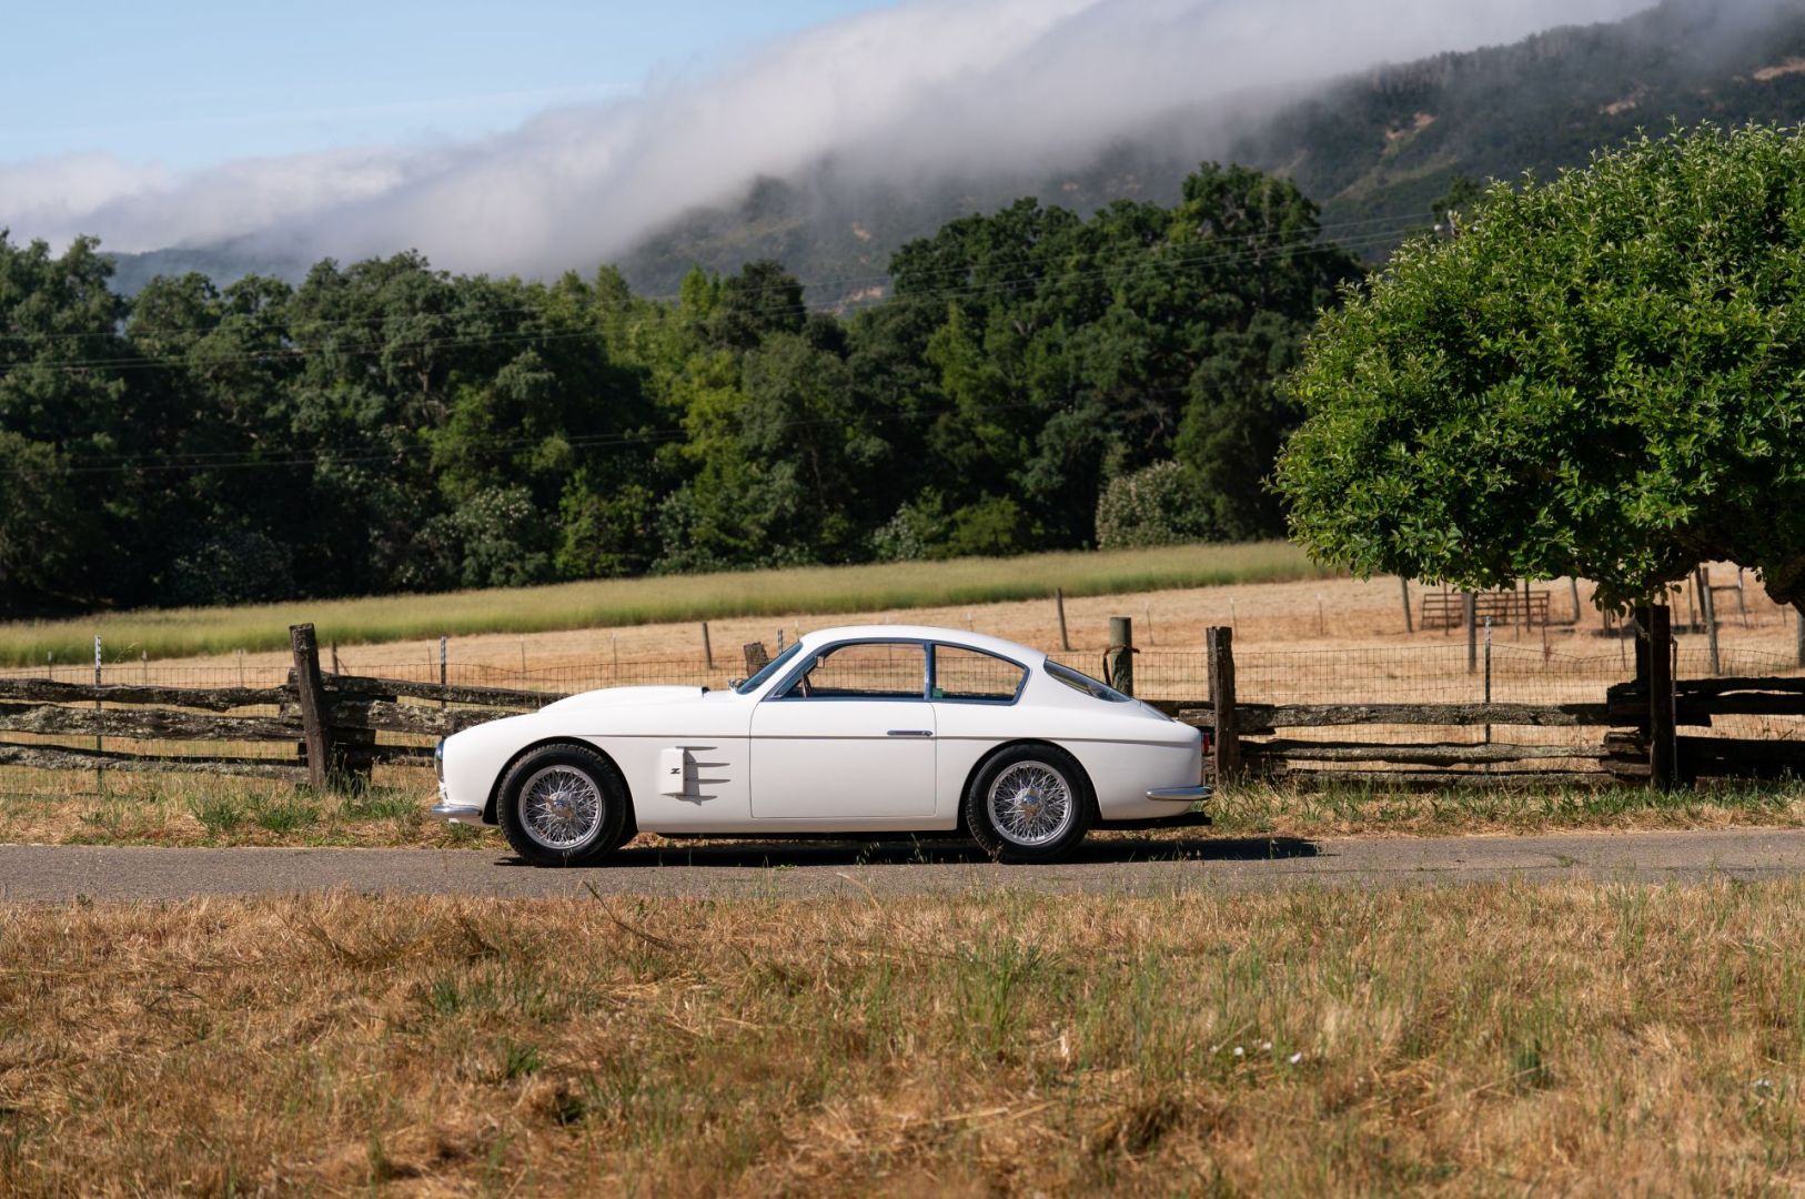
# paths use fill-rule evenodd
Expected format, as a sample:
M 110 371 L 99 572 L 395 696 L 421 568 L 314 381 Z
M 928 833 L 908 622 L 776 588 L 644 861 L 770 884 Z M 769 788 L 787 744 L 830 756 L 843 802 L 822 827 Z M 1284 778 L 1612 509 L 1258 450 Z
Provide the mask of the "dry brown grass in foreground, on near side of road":
M 1805 881 L 0 908 L 0 1192 L 1805 1186 Z

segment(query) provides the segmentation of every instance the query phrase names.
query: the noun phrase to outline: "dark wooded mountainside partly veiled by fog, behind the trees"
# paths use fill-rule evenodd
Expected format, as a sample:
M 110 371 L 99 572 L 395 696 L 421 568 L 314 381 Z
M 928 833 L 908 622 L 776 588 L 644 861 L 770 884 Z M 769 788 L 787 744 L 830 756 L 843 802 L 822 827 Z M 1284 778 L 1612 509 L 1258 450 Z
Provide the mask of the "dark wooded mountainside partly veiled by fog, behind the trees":
M 1323 204 L 1325 224 L 1383 256 L 1401 224 L 1428 220 L 1458 175 L 1545 177 L 1675 121 L 1805 117 L 1805 0 L 1666 0 L 1610 25 L 1384 67 L 1245 123 L 1226 144 L 1211 132 L 1218 117 L 1171 112 L 1087 161 L 946 173 L 906 190 L 823 161 L 791 179 L 749 181 L 735 204 L 677 217 L 621 267 L 635 291 L 668 296 L 697 264 L 726 274 L 776 258 L 809 283 L 814 303 L 861 303 L 884 294 L 892 253 L 948 220 L 1023 195 L 1079 213 L 1121 197 L 1171 204 L 1200 159 L 1291 175 Z M 128 294 L 152 274 L 200 271 L 226 282 L 262 271 L 298 282 L 309 265 L 233 246 L 119 255 L 117 264 Z

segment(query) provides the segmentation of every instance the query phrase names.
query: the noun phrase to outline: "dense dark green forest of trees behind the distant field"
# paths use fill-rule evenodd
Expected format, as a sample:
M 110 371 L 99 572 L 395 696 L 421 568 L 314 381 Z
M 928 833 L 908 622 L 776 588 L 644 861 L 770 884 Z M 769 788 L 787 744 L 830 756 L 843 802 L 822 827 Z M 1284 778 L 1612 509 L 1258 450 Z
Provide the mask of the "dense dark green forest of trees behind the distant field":
M 0 612 L 1276 534 L 1273 383 L 1359 271 L 1217 166 L 955 220 L 850 316 L 412 253 L 128 302 L 0 235 Z

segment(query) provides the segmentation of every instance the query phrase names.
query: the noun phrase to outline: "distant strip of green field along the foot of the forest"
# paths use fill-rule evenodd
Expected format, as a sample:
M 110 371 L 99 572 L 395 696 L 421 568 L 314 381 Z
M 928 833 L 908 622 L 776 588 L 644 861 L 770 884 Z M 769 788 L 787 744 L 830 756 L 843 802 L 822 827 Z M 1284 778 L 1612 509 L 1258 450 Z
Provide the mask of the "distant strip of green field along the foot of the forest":
M 796 567 L 727 574 L 556 583 L 437 596 L 296 600 L 235 609 L 108 612 L 60 621 L 0 625 L 0 665 L 85 661 L 94 634 L 108 657 L 188 657 L 280 650 L 289 625 L 312 621 L 321 641 L 374 645 L 484 632 L 619 628 L 733 616 L 892 612 L 960 603 L 1038 600 L 1134 590 L 1276 583 L 1332 574 L 1287 542 L 1171 545 L 1112 553 L 957 558 L 863 567 Z

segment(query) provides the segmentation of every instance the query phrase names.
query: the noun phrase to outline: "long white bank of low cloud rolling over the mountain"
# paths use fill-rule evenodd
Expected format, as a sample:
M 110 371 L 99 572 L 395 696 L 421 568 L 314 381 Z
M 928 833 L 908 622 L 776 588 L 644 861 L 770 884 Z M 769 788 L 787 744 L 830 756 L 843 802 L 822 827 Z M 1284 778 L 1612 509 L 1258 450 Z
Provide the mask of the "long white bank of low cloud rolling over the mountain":
M 1740 0 L 1744 7 L 1760 0 Z M 619 255 L 756 175 L 825 157 L 899 182 L 1069 164 L 1173 110 L 1615 20 L 1650 0 L 904 0 L 776 42 L 702 83 L 549 110 L 428 148 L 347 148 L 191 173 L 79 155 L 0 166 L 0 226 L 110 249 L 251 238 L 298 258 L 404 247 L 549 274 Z

